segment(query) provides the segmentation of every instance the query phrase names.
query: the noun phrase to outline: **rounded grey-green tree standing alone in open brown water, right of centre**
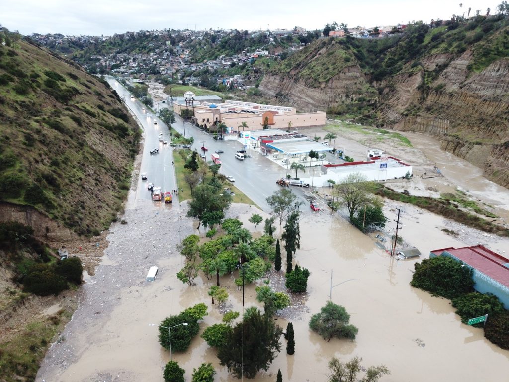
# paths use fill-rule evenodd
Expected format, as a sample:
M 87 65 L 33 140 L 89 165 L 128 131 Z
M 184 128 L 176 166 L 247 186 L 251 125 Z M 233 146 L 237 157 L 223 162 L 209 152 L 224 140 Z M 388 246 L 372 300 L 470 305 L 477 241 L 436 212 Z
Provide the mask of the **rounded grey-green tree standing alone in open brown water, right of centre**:
M 332 337 L 354 340 L 358 329 L 354 325 L 350 325 L 349 321 L 350 315 L 344 307 L 327 301 L 320 313 L 311 317 L 309 328 L 317 332 L 327 342 Z

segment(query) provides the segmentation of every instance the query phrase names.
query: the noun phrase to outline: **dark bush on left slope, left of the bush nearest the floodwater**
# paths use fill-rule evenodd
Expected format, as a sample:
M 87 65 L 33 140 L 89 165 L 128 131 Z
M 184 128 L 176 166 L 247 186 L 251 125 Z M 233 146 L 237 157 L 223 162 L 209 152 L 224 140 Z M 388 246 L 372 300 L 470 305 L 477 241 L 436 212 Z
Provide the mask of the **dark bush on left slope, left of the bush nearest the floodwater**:
M 55 273 L 51 264 L 35 264 L 23 279 L 24 291 L 39 296 L 59 294 L 67 289 L 65 278 Z

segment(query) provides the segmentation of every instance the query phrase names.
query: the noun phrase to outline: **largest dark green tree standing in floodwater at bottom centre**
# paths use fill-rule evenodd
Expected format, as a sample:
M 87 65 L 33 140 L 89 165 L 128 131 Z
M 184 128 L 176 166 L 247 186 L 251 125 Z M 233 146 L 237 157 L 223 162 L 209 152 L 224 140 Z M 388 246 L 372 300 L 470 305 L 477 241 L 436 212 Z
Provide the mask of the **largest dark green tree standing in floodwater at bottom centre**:
M 281 333 L 271 316 L 251 309 L 226 337 L 225 345 L 219 348 L 220 364 L 227 366 L 237 378 L 242 375 L 254 378 L 259 370 L 267 371 L 276 352 L 281 351 Z

